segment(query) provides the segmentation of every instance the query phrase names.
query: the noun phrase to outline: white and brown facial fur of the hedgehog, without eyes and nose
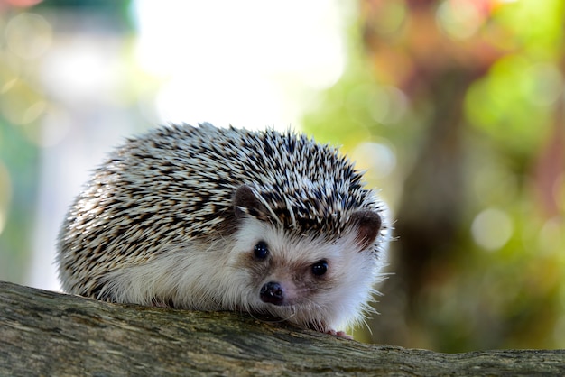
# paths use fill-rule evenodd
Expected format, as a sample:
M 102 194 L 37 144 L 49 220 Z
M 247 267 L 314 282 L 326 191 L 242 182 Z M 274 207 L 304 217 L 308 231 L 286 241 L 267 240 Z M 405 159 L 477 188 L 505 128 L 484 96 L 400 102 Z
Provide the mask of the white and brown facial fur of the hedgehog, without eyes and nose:
M 347 326 L 361 320 L 367 302 L 375 293 L 375 282 L 384 255 L 378 260 L 369 250 L 359 250 L 356 229 L 337 240 L 289 235 L 252 218 L 246 218 L 236 234 L 229 265 L 245 289 L 241 297 L 248 309 L 268 312 L 301 326 L 320 330 Z M 254 247 L 264 241 L 269 247 L 265 261 L 254 259 Z M 311 266 L 325 260 L 328 271 L 316 277 Z M 260 299 L 260 290 L 269 281 L 283 285 L 289 305 L 275 306 Z

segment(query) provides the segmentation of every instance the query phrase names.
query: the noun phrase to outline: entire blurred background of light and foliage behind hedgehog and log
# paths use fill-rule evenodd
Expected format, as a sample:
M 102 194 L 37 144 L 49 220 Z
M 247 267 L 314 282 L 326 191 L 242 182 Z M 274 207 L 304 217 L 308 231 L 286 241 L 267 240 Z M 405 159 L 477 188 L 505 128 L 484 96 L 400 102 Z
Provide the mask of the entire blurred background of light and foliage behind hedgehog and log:
M 365 342 L 565 347 L 564 0 L 0 0 L 0 280 L 155 124 L 300 130 L 392 209 Z M 370 331 L 368 331 L 370 329 Z

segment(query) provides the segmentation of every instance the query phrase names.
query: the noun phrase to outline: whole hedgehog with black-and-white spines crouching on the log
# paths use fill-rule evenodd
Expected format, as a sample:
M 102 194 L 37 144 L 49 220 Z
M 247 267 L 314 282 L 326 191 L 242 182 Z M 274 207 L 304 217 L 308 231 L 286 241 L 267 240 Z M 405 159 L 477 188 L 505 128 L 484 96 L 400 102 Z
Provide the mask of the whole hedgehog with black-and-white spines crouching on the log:
M 111 302 L 357 324 L 382 280 L 375 191 L 294 133 L 171 125 L 110 154 L 62 225 L 63 289 Z

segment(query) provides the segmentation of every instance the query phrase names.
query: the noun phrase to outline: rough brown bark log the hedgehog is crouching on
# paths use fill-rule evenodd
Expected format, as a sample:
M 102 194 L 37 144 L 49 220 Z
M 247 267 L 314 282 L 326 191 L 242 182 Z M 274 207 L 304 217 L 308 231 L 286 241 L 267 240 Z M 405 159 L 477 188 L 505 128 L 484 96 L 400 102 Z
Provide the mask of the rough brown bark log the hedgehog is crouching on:
M 115 305 L 0 282 L 0 375 L 565 375 L 565 350 L 438 354 L 230 312 Z

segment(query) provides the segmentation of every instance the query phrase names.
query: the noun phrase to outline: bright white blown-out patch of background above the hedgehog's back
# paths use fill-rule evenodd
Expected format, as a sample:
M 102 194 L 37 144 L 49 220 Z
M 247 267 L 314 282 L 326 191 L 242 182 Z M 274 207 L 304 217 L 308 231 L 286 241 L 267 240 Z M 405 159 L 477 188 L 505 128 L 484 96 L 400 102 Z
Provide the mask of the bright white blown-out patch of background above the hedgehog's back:
M 346 64 L 342 2 L 138 0 L 133 10 L 140 67 L 166 82 L 162 122 L 298 128 Z

